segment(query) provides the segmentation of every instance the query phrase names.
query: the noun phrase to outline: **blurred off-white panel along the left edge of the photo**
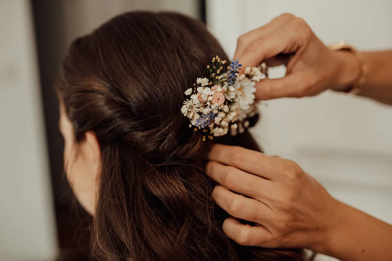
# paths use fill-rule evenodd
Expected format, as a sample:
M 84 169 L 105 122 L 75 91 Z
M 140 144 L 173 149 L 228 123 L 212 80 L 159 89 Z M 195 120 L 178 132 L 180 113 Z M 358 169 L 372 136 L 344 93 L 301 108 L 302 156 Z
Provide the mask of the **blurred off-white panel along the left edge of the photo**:
M 29 1 L 0 1 L 0 260 L 53 260 L 57 235 Z

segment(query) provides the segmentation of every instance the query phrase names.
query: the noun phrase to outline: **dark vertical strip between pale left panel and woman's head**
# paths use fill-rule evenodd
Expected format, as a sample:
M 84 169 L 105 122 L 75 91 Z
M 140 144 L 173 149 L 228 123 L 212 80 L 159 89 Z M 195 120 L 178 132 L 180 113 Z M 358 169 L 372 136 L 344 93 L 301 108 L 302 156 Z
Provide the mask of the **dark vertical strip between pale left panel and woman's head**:
M 72 209 L 79 210 L 81 207 L 75 204 L 72 190 L 64 175 L 64 141 L 58 130 L 58 98 L 54 89 L 54 81 L 66 51 L 67 28 L 64 2 L 31 0 L 30 6 L 33 14 L 58 241 L 60 250 L 69 249 L 71 251 L 67 252 L 67 257 L 61 260 L 84 260 L 85 256 L 78 252 L 78 248 L 85 248 L 81 244 L 88 245 L 88 237 L 84 239 L 84 235 L 87 233 L 88 236 L 89 232 L 81 230 L 82 220 L 78 220 L 74 214 L 71 214 Z M 83 211 L 80 219 L 86 216 Z M 82 237 L 84 237 L 84 241 L 78 242 L 78 238 Z M 60 257 L 63 258 L 63 252 L 60 253 Z M 82 259 L 79 259 L 80 257 Z

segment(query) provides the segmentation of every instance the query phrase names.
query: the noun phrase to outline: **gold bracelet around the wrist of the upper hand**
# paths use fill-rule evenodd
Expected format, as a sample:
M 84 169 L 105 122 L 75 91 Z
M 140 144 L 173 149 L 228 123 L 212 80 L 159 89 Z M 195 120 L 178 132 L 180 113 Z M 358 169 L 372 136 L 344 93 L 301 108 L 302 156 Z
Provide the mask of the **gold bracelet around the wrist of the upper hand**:
M 350 89 L 348 89 L 346 92 L 350 94 L 358 94 L 361 91 L 361 87 L 365 84 L 366 79 L 367 79 L 367 74 L 368 70 L 367 67 L 363 61 L 363 57 L 361 53 L 357 51 L 354 47 L 351 45 L 348 45 L 345 43 L 345 41 L 340 40 L 336 44 L 332 44 L 328 46 L 329 49 L 332 51 L 349 51 L 350 53 L 354 54 L 356 58 L 358 59 L 358 64 L 359 64 L 359 74 L 354 83 L 350 86 Z

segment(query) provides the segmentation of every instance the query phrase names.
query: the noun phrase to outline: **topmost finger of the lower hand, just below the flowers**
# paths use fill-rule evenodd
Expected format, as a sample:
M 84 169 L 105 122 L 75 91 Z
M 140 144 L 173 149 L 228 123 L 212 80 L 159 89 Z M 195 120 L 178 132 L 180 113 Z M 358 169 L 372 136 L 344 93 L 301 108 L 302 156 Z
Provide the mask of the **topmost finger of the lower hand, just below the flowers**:
M 266 179 L 274 179 L 280 172 L 285 159 L 267 156 L 243 147 L 216 144 L 212 147 L 209 159 L 230 165 Z

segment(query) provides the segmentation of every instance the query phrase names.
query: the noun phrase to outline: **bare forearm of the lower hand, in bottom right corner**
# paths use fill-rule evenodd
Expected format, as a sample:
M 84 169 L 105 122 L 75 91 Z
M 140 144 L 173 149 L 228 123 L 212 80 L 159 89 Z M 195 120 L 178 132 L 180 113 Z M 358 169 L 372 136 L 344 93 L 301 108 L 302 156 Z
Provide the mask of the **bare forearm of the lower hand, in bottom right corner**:
M 337 203 L 336 224 L 316 251 L 342 261 L 392 260 L 392 225 Z

